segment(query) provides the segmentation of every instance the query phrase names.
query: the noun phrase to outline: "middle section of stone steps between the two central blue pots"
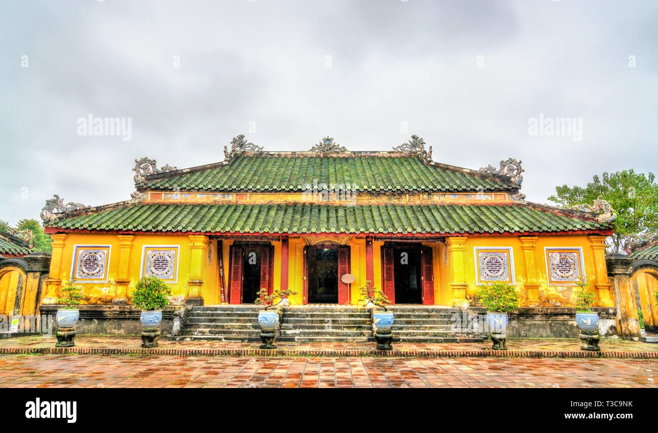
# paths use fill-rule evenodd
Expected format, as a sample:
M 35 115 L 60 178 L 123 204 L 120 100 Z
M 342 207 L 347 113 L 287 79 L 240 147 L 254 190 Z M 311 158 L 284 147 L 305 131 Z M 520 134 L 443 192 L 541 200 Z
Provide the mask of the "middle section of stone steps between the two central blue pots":
M 277 341 L 374 341 L 370 313 L 365 308 L 343 306 L 286 307 Z

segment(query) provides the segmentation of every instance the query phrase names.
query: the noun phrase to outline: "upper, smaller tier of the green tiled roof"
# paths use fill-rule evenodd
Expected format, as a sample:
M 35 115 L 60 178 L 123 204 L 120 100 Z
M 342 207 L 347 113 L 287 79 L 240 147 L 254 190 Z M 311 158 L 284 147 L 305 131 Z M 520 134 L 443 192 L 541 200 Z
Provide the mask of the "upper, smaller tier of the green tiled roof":
M 356 185 L 355 191 L 501 191 L 515 187 L 503 177 L 443 164 L 425 165 L 417 156 L 240 155 L 228 165 L 151 175 L 142 189 L 185 191 L 303 191 L 304 184 Z

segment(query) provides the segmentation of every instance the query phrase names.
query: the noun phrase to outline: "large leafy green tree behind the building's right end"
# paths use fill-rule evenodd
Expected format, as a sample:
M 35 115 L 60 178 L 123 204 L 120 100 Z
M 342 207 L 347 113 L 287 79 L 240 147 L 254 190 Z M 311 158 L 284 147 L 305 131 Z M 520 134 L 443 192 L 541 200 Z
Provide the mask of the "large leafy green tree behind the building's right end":
M 595 175 L 586 187 L 555 187 L 557 194 L 548 199 L 559 206 L 592 204 L 600 195 L 617 212 L 611 249 L 624 250 L 631 236 L 651 237 L 658 233 L 658 185 L 653 173 L 645 175 L 634 170 Z

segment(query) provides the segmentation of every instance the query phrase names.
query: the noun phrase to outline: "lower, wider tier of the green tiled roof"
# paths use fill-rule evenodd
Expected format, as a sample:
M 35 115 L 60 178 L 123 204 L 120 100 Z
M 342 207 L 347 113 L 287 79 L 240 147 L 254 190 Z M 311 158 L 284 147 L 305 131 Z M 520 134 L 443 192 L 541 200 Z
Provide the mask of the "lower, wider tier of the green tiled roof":
M 46 223 L 99 231 L 192 233 L 522 233 L 611 225 L 511 204 L 136 204 Z

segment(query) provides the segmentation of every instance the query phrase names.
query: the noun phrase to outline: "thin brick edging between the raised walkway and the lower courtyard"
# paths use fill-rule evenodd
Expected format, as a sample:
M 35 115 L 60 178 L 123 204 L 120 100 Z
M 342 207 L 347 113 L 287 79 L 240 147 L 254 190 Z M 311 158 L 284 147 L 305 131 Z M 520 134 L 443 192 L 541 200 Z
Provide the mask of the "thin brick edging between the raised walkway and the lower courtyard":
M 658 359 L 658 352 L 602 350 L 294 350 L 294 349 L 143 349 L 143 348 L 0 348 L 0 355 L 178 355 L 253 357 L 504 357 L 504 358 L 627 358 Z

